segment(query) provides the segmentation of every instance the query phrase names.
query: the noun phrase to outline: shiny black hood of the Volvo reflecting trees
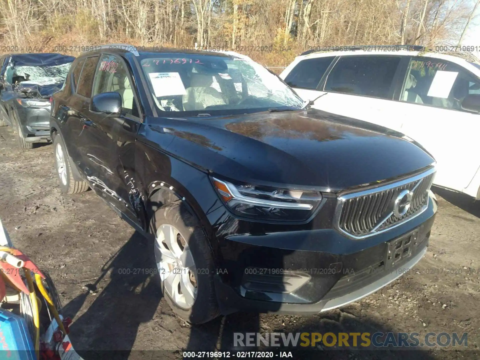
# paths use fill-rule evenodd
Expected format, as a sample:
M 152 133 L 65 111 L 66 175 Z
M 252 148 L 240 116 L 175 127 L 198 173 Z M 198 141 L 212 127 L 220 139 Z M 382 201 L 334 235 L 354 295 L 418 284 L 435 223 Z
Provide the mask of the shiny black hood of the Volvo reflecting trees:
M 164 151 L 217 176 L 260 185 L 335 192 L 434 162 L 399 132 L 315 109 L 152 120 L 147 138 L 165 144 Z

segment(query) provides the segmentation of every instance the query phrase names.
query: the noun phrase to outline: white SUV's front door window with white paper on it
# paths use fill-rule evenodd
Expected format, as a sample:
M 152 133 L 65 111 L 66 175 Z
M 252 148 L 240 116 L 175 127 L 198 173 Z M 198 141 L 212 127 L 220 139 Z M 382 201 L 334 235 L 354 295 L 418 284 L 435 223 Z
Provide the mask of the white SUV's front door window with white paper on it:
M 480 94 L 480 81 L 473 74 L 448 61 L 413 58 L 400 100 L 462 110 L 469 94 Z

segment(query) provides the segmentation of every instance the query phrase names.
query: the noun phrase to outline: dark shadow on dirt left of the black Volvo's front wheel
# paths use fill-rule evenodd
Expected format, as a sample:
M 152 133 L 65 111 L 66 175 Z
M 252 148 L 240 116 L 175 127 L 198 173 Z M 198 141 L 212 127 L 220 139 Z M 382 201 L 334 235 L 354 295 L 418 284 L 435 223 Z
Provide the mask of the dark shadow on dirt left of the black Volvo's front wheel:
M 78 350 L 125 350 L 115 359 L 126 359 L 132 349 L 141 323 L 152 320 L 156 313 L 161 291 L 148 274 L 153 264 L 148 240 L 134 232 L 125 245 L 102 267 L 102 275 L 95 283 L 85 284 L 89 290 L 63 307 L 63 314 L 73 318 L 84 304 L 90 290 L 104 277 L 108 285 L 99 289 L 88 310 L 71 325 L 72 342 L 88 339 L 86 348 Z M 104 354 L 105 355 L 105 354 Z M 86 354 L 85 360 L 96 359 Z

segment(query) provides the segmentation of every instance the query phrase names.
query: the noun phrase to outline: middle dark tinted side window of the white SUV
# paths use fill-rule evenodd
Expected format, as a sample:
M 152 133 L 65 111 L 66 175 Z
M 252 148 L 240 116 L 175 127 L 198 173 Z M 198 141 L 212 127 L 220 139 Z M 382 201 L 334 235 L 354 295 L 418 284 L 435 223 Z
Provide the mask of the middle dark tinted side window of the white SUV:
M 325 91 L 389 99 L 400 57 L 343 56 L 328 74 Z

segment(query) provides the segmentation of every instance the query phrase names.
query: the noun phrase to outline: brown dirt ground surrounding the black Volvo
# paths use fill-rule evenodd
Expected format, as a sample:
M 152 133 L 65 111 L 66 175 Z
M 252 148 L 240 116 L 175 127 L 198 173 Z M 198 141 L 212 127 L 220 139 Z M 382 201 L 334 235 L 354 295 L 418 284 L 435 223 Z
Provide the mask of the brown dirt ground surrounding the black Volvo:
M 115 353 L 115 359 L 180 359 L 183 350 L 236 351 L 233 332 L 280 331 L 468 332 L 467 349 L 318 347 L 301 356 L 294 353 L 301 359 L 480 358 L 475 351 L 480 344 L 480 204 L 459 194 L 437 194 L 430 247 L 416 270 L 360 302 L 315 316 L 235 313 L 191 326 L 161 299 L 147 271 L 133 274 L 132 269 L 152 268 L 151 244 L 94 192 L 62 196 L 52 145 L 20 150 L 12 130 L 0 128 L 0 218 L 16 247 L 50 271 L 63 313 L 73 319 L 74 348 L 125 350 Z

